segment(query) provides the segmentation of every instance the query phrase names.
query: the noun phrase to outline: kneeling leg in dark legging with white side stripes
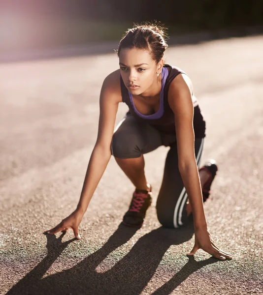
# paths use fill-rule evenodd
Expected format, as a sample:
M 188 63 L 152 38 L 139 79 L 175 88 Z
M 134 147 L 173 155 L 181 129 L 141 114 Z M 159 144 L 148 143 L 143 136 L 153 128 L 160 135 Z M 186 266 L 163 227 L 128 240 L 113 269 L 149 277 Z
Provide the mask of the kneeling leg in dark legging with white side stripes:
M 198 166 L 203 150 L 203 142 L 203 138 L 196 138 L 195 140 L 195 154 Z M 187 199 L 188 196 L 178 168 L 177 145 L 174 144 L 166 156 L 163 182 L 156 204 L 157 217 L 164 227 L 178 228 L 187 221 Z

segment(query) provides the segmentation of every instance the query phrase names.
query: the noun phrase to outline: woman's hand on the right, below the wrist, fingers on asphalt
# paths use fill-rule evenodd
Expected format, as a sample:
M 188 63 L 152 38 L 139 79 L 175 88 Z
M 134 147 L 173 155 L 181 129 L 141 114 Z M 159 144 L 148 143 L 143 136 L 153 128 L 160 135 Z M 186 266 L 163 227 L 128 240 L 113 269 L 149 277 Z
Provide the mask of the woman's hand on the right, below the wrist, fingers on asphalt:
M 232 258 L 230 253 L 222 251 L 215 245 L 206 227 L 195 231 L 195 246 L 190 253 L 187 253 L 187 255 L 194 255 L 198 249 L 202 249 L 213 257 L 221 260 Z

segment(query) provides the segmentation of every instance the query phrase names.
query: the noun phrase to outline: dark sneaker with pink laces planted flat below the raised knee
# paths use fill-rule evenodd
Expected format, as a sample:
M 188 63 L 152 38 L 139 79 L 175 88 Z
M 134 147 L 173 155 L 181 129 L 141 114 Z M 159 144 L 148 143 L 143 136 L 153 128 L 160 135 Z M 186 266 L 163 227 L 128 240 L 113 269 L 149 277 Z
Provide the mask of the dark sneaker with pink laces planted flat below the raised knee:
M 135 189 L 129 210 L 123 216 L 122 223 L 128 226 L 141 227 L 146 210 L 152 203 L 152 186 L 148 190 Z

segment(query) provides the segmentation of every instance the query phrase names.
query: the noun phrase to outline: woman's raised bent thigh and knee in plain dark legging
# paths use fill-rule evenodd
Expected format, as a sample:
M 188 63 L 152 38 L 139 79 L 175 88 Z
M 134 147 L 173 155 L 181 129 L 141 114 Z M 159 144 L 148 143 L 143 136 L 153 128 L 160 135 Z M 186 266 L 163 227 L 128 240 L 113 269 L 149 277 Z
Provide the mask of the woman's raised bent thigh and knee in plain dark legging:
M 161 134 L 156 128 L 127 115 L 114 130 L 111 153 L 121 159 L 137 158 L 160 146 Z

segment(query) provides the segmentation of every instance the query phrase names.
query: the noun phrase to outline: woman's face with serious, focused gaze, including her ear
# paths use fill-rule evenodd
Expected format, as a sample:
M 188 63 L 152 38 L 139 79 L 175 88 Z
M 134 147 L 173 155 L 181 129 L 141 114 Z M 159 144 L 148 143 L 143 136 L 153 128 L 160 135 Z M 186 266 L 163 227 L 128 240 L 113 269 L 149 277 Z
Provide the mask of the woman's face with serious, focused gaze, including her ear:
M 150 90 L 161 73 L 163 59 L 156 64 L 149 51 L 137 48 L 123 48 L 119 55 L 120 71 L 127 89 L 135 95 Z M 130 87 L 136 85 L 135 87 Z

